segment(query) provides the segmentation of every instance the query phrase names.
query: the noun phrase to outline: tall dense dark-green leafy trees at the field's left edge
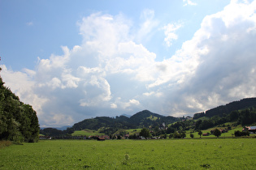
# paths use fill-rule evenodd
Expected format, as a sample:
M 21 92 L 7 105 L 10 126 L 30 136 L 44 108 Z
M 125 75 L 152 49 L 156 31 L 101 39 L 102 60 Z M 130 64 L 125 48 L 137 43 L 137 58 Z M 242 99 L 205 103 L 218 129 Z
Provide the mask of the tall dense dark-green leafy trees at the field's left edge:
M 22 103 L 0 77 L 0 140 L 37 142 L 39 129 L 32 106 Z

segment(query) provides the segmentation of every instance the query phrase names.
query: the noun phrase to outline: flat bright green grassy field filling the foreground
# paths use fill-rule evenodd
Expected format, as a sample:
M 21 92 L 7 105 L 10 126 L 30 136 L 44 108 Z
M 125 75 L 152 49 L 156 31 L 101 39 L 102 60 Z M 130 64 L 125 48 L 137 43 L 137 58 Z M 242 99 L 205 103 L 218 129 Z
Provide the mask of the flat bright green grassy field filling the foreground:
M 0 149 L 0 169 L 255 169 L 255 138 L 49 140 Z

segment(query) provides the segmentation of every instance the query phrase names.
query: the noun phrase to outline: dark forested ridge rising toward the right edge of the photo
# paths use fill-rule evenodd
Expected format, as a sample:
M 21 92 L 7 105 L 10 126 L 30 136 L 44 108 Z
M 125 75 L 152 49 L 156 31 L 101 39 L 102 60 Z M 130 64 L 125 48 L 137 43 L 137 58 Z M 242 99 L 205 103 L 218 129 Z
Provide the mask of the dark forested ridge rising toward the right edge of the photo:
M 233 101 L 226 105 L 221 105 L 216 108 L 211 108 L 205 113 L 195 113 L 193 118 L 199 117 L 224 117 L 225 115 L 232 113 L 232 111 L 241 110 L 245 108 L 254 107 L 256 108 L 256 98 L 245 98 L 239 101 Z

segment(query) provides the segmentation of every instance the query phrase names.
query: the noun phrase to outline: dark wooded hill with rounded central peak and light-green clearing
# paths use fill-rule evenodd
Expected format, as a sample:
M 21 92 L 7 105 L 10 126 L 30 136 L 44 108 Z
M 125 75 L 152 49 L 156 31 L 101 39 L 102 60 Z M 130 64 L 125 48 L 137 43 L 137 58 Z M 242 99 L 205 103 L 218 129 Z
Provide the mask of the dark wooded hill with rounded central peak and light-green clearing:
M 162 125 L 170 124 L 175 121 L 179 121 L 177 117 L 164 117 L 157 113 L 151 113 L 148 110 L 143 110 L 134 114 L 132 117 L 95 117 L 92 119 L 85 119 L 72 126 L 73 130 L 98 130 L 102 127 L 108 127 L 108 129 L 132 129 L 140 128 L 149 125 Z

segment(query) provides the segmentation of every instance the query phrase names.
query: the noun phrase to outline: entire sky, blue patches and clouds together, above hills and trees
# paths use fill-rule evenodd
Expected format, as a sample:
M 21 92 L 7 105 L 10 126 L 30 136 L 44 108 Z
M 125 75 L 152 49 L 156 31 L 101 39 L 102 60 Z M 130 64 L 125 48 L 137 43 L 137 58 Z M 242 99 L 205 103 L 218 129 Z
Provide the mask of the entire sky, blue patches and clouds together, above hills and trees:
M 0 0 L 6 87 L 41 127 L 256 96 L 256 1 Z

